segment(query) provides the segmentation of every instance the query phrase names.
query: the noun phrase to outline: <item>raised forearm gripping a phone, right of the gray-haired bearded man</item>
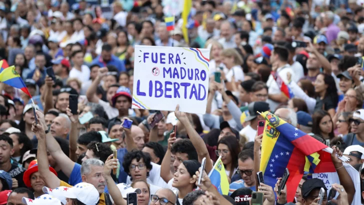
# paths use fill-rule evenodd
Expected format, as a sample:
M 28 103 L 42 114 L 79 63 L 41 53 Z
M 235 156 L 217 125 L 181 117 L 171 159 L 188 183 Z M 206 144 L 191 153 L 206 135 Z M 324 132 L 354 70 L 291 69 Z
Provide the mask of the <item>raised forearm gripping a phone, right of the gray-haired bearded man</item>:
M 103 175 L 106 180 L 108 193 L 111 195 L 115 205 L 126 205 L 125 199 L 122 197 L 119 188 L 116 186 L 111 177 L 111 170 L 117 168 L 117 158 L 112 158 L 113 154 L 107 157 L 103 166 Z

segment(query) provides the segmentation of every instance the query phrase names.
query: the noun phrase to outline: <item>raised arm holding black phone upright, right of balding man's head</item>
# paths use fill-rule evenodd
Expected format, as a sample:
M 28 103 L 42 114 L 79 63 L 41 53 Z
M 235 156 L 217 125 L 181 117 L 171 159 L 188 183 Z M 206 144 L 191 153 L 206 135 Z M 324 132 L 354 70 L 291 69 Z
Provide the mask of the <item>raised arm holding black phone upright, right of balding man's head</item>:
M 69 119 L 71 120 L 71 130 L 69 131 L 69 158 L 72 161 L 77 161 L 77 138 L 78 138 L 78 113 L 79 110 L 77 110 L 77 114 L 72 114 L 71 109 L 68 107 L 66 108 L 67 115 Z

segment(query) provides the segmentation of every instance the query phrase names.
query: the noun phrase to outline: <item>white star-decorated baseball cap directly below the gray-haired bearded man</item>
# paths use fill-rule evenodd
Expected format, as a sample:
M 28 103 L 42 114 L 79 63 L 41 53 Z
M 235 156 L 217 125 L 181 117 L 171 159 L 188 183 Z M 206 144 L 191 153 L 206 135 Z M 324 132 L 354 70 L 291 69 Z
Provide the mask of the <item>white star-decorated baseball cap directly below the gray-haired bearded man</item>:
M 96 205 L 100 199 L 97 189 L 90 183 L 80 182 L 62 191 L 62 196 L 77 199 L 87 205 Z

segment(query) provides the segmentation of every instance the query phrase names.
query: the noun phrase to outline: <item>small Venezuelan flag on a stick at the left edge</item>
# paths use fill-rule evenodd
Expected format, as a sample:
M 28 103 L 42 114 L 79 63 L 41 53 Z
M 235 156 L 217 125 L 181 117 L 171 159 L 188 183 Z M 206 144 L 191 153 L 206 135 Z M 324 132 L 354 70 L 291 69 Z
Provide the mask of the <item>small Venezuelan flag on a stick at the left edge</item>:
M 0 63 L 1 63 L 0 67 L 2 67 L 2 62 L 0 61 Z M 25 92 L 25 94 L 29 95 L 29 97 L 31 98 L 28 88 L 26 88 L 25 83 L 21 79 L 19 73 L 16 72 L 14 65 L 7 67 L 0 72 L 0 82 L 21 89 L 23 92 Z

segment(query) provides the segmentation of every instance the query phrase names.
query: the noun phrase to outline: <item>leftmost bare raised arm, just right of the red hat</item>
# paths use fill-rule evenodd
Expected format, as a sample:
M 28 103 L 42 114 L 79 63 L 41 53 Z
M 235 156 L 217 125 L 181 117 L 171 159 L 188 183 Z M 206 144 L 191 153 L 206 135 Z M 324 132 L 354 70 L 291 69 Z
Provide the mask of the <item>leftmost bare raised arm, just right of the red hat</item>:
M 39 119 L 38 119 L 39 120 Z M 38 171 L 40 177 L 44 180 L 45 184 L 49 188 L 56 188 L 60 184 L 59 178 L 49 170 L 49 162 L 47 157 L 47 150 L 45 146 L 45 131 L 42 125 L 35 124 L 33 121 L 31 130 L 35 133 L 38 139 L 38 150 L 37 150 L 37 161 L 38 161 Z

